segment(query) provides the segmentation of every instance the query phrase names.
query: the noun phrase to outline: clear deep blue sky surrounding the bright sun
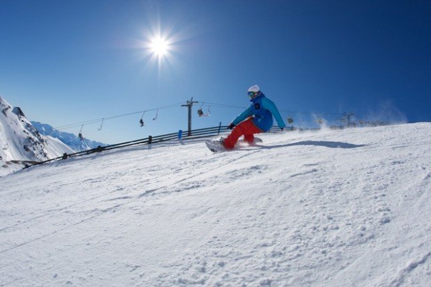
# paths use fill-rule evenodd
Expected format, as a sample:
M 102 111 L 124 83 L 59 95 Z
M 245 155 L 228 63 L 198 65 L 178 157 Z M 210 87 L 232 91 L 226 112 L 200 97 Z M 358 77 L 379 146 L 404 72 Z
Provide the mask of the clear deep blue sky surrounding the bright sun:
M 0 0 L 0 95 L 52 126 L 151 110 L 144 127 L 140 114 L 83 126 L 110 143 L 186 129 L 186 108 L 152 109 L 190 97 L 245 108 L 254 84 L 297 125 L 430 122 L 430 15 L 430 1 Z M 143 44 L 158 32 L 160 63 Z M 193 128 L 243 110 L 200 107 Z

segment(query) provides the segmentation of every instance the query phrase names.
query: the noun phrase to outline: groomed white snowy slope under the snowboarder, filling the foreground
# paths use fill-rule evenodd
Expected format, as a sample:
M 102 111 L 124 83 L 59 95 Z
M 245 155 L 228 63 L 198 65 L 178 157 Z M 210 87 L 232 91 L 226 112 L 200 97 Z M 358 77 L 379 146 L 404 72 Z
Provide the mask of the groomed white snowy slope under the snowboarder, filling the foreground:
M 0 286 L 429 286 L 430 123 L 261 138 L 0 178 Z

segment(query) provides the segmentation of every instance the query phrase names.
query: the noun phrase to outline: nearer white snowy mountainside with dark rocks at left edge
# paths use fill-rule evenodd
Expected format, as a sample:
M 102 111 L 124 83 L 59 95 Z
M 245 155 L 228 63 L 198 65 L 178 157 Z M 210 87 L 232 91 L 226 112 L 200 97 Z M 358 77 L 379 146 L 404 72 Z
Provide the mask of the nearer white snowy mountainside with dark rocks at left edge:
M 19 170 L 26 162 L 73 152 L 60 140 L 40 135 L 21 108 L 10 106 L 1 96 L 0 110 L 0 176 Z

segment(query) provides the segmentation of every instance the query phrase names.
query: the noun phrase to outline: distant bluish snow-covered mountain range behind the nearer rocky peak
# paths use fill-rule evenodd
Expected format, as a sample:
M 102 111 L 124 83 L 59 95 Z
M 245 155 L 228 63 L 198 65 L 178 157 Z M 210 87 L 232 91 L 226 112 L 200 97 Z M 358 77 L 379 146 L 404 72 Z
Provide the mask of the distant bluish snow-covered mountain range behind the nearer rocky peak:
M 73 133 L 66 133 L 64 131 L 58 131 L 49 124 L 41 124 L 40 122 L 31 122 L 33 126 L 44 136 L 51 136 L 57 138 L 65 145 L 73 149 L 74 151 L 86 151 L 88 149 L 95 149 L 98 146 L 104 147 L 106 144 L 102 142 L 96 142 L 94 140 L 88 140 L 84 138 L 81 140 L 78 136 Z

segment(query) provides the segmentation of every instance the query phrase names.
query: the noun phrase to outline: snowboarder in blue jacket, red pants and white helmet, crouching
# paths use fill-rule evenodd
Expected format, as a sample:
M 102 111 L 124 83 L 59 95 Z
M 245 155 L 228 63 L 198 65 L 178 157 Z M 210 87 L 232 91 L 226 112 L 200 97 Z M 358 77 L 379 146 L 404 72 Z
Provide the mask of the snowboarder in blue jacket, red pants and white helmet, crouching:
M 273 126 L 273 116 L 280 129 L 283 130 L 286 126 L 273 101 L 263 95 L 258 85 L 250 87 L 247 95 L 252 102 L 250 108 L 229 124 L 228 129 L 232 129 L 231 134 L 227 138 L 220 139 L 225 149 L 233 149 L 241 136 L 244 136 L 246 142 L 253 143 L 255 133 L 269 131 Z

